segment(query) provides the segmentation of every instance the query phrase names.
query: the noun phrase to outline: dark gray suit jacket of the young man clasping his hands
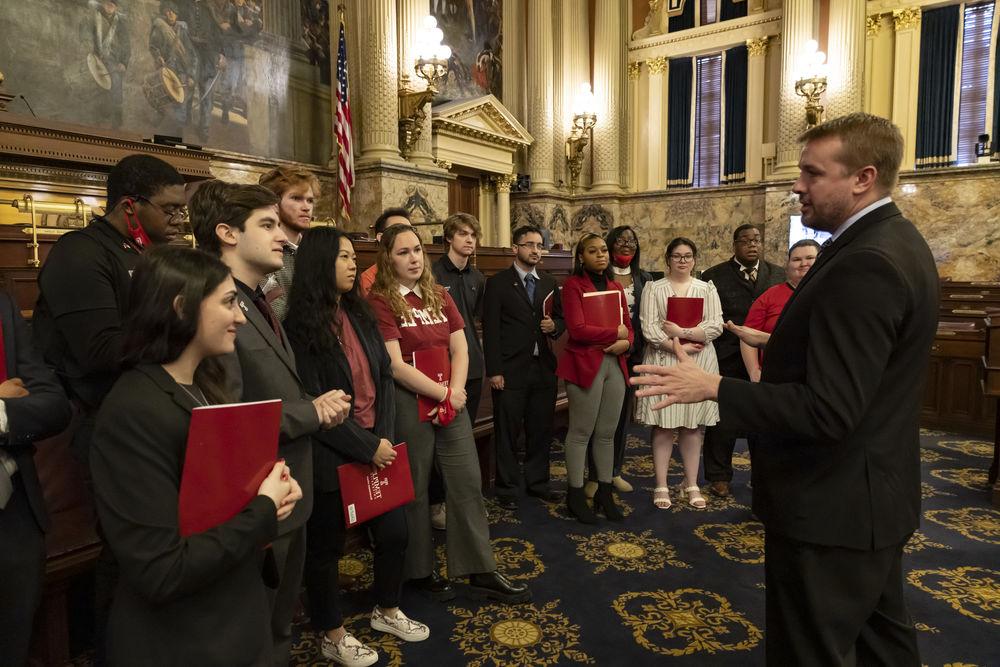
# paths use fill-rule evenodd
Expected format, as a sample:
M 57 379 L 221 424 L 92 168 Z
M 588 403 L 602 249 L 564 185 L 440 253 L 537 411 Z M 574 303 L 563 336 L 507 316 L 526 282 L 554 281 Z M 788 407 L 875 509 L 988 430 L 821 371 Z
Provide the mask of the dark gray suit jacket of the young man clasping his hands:
M 282 329 L 281 340 L 274 335 L 253 300 L 243 290 L 236 299 L 247 318 L 236 333 L 236 351 L 221 357 L 226 368 L 229 393 L 239 401 L 281 399 L 281 436 L 278 454 L 302 487 L 302 500 L 290 517 L 279 525 L 281 534 L 304 526 L 312 512 L 312 441 L 320 429 L 312 398 L 302 389 L 295 367 L 295 354 Z

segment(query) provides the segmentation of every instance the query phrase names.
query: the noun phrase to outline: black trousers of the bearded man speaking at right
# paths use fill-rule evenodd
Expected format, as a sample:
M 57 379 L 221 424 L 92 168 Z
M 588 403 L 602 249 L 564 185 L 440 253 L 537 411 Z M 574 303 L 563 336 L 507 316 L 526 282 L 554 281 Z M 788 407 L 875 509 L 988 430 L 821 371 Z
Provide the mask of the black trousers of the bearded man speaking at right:
M 765 533 L 769 665 L 920 665 L 903 600 L 906 540 L 857 550 Z

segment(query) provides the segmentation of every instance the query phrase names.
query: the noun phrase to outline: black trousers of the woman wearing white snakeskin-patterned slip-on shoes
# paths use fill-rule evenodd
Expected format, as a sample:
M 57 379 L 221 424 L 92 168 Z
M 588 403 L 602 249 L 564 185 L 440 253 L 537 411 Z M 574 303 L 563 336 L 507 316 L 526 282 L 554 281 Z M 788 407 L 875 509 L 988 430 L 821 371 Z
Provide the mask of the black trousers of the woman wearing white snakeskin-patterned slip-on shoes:
M 403 585 L 403 559 L 408 533 L 402 507 L 363 524 L 375 554 L 375 602 L 388 609 L 399 606 Z M 340 490 L 316 493 L 313 513 L 306 524 L 305 583 L 309 595 L 309 615 L 317 632 L 344 624 L 340 610 L 338 562 L 344 556 L 344 504 Z

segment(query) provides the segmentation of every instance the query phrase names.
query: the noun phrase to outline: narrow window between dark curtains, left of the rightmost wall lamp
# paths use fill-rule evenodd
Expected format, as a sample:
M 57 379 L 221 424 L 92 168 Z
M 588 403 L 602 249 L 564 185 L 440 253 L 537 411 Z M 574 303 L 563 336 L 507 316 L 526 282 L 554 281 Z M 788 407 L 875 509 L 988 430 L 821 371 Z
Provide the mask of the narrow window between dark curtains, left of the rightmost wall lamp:
M 694 112 L 694 185 L 719 184 L 722 127 L 722 55 L 698 58 Z

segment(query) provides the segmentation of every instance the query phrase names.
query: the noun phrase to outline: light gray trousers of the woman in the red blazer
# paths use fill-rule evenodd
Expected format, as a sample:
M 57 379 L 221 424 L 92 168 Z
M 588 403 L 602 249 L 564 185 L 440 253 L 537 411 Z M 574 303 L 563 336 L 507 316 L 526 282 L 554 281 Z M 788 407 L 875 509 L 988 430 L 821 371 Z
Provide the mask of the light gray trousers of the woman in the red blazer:
M 569 399 L 569 431 L 566 434 L 566 477 L 569 485 L 583 486 L 587 467 L 587 442 L 593 435 L 597 479 L 610 482 L 615 456 L 615 429 L 625 400 L 625 377 L 618 357 L 604 355 L 601 367 L 589 387 L 566 383 Z

